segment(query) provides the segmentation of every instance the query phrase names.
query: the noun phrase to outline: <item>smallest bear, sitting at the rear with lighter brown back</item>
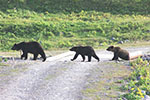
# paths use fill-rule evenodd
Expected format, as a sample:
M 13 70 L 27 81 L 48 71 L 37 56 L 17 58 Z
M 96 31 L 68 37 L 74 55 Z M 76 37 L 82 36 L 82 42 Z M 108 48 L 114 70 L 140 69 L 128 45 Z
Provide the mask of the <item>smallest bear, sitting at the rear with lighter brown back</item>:
M 112 58 L 112 60 L 118 60 L 119 57 L 124 60 L 130 59 L 129 52 L 124 49 L 121 49 L 120 47 L 110 46 L 106 50 L 114 52 L 114 57 Z

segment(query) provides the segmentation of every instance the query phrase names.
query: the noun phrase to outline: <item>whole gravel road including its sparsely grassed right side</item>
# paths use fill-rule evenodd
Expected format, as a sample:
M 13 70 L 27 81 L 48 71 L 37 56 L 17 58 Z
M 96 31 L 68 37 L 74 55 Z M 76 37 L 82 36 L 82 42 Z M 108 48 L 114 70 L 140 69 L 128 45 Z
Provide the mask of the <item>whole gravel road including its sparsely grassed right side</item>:
M 148 52 L 150 47 L 128 50 Z M 112 91 L 114 94 L 111 95 L 115 95 L 113 97 L 105 89 L 113 90 L 110 89 L 111 82 L 118 81 L 130 72 L 129 67 L 123 66 L 128 61 L 119 64 L 109 61 L 113 55 L 104 50 L 97 51 L 97 55 L 100 62 L 94 58 L 92 62 L 81 62 L 81 57 L 72 62 L 70 59 L 74 52 L 67 52 L 50 57 L 46 62 L 30 61 L 34 63 L 28 64 L 26 61 L 27 65 L 23 65 L 24 67 L 14 66 L 12 69 L 18 70 L 7 73 L 2 73 L 4 66 L 0 66 L 0 100 L 98 100 L 101 97 L 105 100 L 116 100 L 121 93 Z M 120 65 L 123 67 L 119 67 Z

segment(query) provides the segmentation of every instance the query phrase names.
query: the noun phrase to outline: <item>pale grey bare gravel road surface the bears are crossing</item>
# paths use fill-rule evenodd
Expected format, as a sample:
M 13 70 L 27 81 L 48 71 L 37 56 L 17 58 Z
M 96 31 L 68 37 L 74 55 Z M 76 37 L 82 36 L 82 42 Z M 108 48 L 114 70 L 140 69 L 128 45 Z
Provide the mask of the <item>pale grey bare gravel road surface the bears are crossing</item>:
M 145 53 L 150 51 L 150 47 L 128 50 Z M 85 88 L 88 77 L 94 74 L 91 70 L 96 67 L 104 71 L 112 68 L 107 66 L 105 69 L 104 64 L 101 66 L 102 63 L 110 62 L 113 56 L 111 52 L 101 50 L 97 51 L 97 55 L 100 62 L 94 58 L 92 62 L 81 62 L 81 57 L 72 62 L 70 59 L 74 52 L 66 52 L 50 57 L 46 62 L 27 60 L 27 64 L 13 67 L 19 68 L 19 71 L 11 71 L 13 74 L 9 73 L 10 75 L 1 74 L 4 70 L 0 70 L 0 100 L 83 100 L 81 91 Z M 4 66 L 1 67 L 3 68 Z

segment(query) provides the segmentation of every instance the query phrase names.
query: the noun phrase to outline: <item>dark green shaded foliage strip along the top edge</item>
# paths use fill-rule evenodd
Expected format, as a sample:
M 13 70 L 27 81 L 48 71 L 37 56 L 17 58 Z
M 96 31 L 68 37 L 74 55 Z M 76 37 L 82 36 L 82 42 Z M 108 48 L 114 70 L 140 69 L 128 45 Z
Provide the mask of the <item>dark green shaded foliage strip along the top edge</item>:
M 0 0 L 0 9 L 28 9 L 35 12 L 71 13 L 85 11 L 113 14 L 149 14 L 149 0 Z M 7 8 L 7 9 L 6 9 Z

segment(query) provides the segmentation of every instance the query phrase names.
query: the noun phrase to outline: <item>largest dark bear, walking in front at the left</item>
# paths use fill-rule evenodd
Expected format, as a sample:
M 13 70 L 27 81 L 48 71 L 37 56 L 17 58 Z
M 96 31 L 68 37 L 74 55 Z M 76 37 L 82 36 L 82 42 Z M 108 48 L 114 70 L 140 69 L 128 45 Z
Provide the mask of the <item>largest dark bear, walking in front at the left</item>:
M 32 53 L 34 55 L 33 60 L 36 60 L 39 54 L 43 58 L 43 61 L 46 60 L 44 50 L 38 42 L 20 42 L 18 44 L 14 44 L 11 49 L 22 50 L 23 54 L 21 55 L 21 59 L 24 57 L 26 60 L 28 58 L 28 53 Z

